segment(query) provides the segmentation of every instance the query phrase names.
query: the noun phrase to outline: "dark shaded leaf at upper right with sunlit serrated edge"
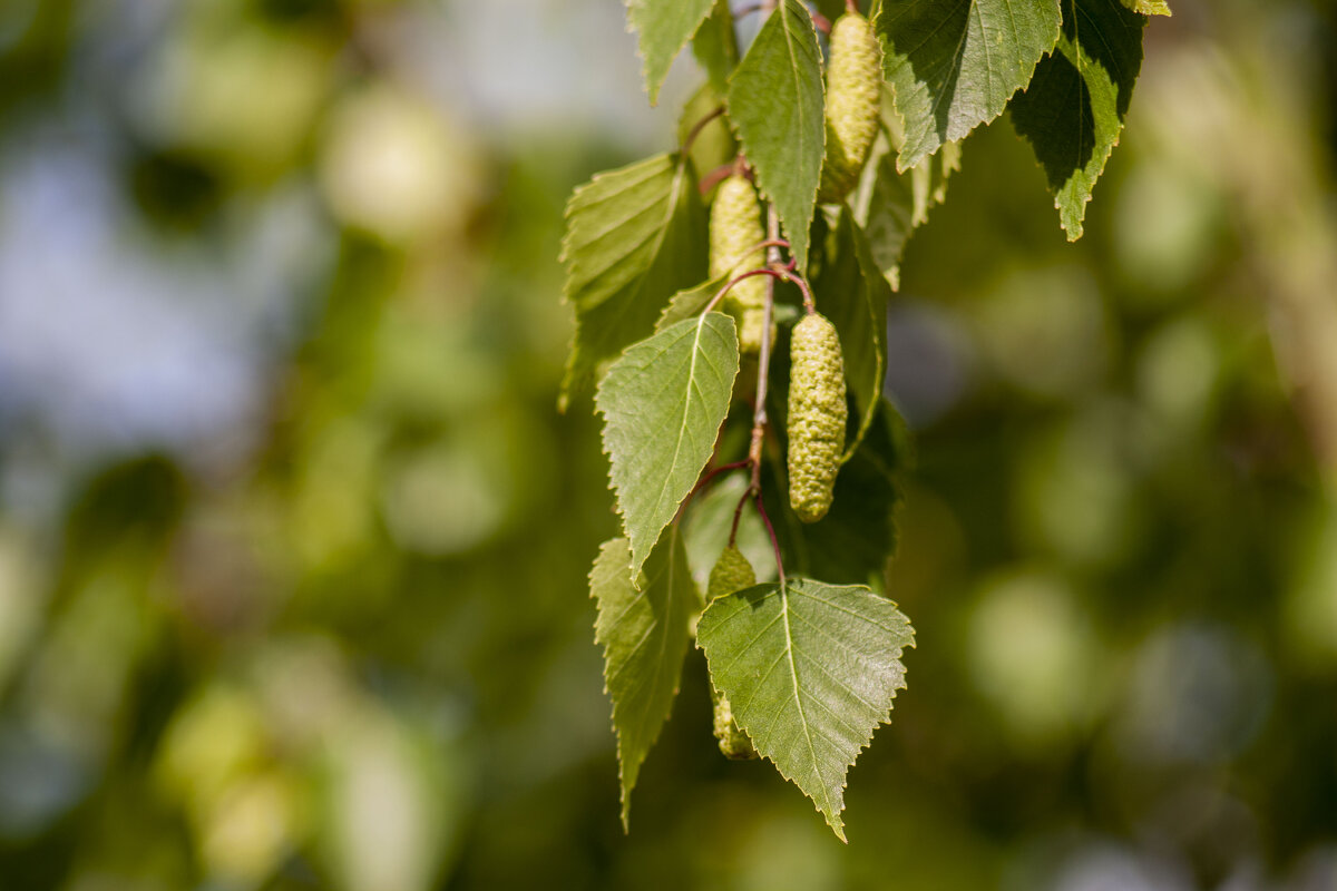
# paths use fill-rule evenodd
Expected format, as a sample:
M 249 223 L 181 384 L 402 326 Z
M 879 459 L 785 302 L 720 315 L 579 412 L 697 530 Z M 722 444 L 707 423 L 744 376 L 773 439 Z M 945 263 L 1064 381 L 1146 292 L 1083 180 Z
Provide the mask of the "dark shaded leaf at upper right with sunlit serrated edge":
M 1031 142 L 1075 242 L 1091 191 L 1119 144 L 1147 20 L 1118 0 L 1063 0 L 1063 37 L 1012 100 L 1012 124 Z

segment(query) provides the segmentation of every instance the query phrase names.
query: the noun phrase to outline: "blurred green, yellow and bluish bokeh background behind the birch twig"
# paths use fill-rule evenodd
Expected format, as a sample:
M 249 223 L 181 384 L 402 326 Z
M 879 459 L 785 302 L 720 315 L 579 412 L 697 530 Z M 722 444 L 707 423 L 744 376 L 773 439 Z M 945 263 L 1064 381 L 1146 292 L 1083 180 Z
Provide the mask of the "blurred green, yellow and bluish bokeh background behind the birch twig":
M 648 108 L 615 0 L 3 0 L 0 888 L 1337 888 L 1337 11 L 1173 5 L 1082 242 L 1004 116 L 909 247 L 845 847 L 699 653 L 616 819 L 555 258 L 690 60 Z

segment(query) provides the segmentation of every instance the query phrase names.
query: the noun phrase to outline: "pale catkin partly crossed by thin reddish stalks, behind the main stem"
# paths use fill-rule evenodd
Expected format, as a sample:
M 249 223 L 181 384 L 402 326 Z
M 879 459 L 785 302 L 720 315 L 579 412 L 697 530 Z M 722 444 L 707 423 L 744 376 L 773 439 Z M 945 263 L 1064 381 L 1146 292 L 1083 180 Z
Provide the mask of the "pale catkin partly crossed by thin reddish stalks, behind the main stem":
M 763 267 L 766 254 L 757 244 L 765 238 L 757 191 L 746 176 L 733 174 L 719 183 L 710 207 L 710 277 L 741 275 Z M 755 355 L 766 321 L 766 278 L 753 275 L 734 285 L 725 309 L 738 321 L 739 350 Z

